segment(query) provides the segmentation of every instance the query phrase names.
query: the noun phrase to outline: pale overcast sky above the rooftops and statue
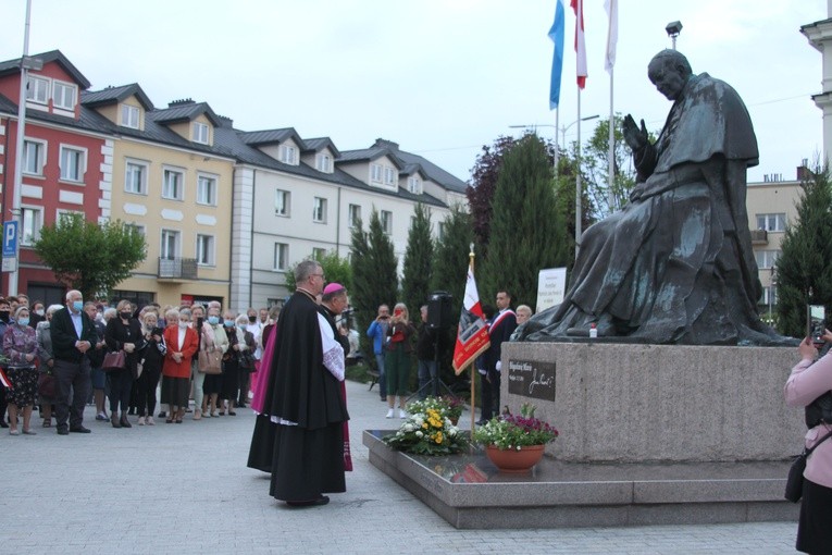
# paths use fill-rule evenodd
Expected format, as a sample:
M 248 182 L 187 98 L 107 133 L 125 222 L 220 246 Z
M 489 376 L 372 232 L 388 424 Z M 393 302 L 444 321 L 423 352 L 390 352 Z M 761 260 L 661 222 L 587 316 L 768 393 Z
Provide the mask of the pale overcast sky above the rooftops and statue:
M 584 0 L 588 55 L 582 116 L 609 114 L 604 0 Z M 569 4 L 569 0 L 566 1 Z M 23 51 L 25 0 L 0 0 L 0 60 Z M 731 84 L 757 132 L 760 165 L 794 178 L 822 149 L 821 54 L 800 25 L 825 0 L 621 0 L 614 110 L 657 131 L 670 103 L 647 63 L 678 48 L 694 73 Z M 33 0 L 29 52 L 60 49 L 98 90 L 138 83 L 160 108 L 206 101 L 245 131 L 295 127 L 340 150 L 399 143 L 468 181 L 483 145 L 538 124 L 552 138 L 548 91 L 555 0 Z M 567 5 L 560 124 L 578 118 L 574 15 Z M 582 127 L 585 138 L 596 122 Z M 567 141 L 576 138 L 576 126 Z

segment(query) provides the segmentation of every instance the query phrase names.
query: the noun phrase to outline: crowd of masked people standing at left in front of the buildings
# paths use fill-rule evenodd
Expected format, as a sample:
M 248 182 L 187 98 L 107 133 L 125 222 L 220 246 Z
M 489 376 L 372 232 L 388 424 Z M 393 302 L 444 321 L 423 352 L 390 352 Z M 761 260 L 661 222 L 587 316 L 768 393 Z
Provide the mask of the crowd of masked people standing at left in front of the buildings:
M 0 298 L 0 427 L 11 435 L 37 434 L 35 408 L 40 427 L 61 435 L 89 433 L 87 404 L 96 420 L 119 429 L 156 425 L 154 418 L 182 423 L 188 412 L 236 416 L 249 402 L 263 331 L 278 313 L 235 313 L 218 301 L 111 307 L 85 303 L 77 291 L 64 305 L 30 305 L 26 295 Z

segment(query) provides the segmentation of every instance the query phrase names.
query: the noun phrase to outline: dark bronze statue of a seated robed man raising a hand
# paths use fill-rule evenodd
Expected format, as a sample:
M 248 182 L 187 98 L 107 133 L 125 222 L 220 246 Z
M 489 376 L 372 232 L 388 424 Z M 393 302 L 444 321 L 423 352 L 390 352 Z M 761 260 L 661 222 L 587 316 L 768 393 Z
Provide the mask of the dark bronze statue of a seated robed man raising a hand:
M 757 312 L 761 286 L 745 208 L 757 139 L 736 91 L 663 50 L 647 74 L 673 102 L 650 144 L 623 122 L 637 171 L 630 202 L 592 225 L 561 305 L 518 330 L 521 341 L 587 336 L 687 345 L 788 343 Z

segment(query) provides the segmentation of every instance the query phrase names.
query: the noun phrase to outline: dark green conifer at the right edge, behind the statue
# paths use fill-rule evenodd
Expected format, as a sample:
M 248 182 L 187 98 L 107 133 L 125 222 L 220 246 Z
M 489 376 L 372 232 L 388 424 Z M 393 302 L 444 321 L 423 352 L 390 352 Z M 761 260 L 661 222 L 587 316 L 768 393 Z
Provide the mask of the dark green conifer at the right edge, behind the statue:
M 778 331 L 806 335 L 806 306 L 823 305 L 832 314 L 832 187 L 829 168 L 800 186 L 797 221 L 786 227 L 777 260 Z

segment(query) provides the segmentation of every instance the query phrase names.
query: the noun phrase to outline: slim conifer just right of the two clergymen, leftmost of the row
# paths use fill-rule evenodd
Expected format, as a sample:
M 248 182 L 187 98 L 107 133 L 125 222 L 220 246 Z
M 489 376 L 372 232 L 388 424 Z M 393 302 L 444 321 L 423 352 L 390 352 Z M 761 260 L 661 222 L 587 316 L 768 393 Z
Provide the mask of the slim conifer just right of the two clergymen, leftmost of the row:
M 373 209 L 370 215 L 370 227 L 364 232 L 361 220 L 352 227 L 352 289 L 350 300 L 356 309 L 356 318 L 360 322 L 359 336 L 361 350 L 373 353 L 372 344 L 367 337 L 367 326 L 375 318 L 378 305 L 393 305 L 399 292 L 397 266 L 393 242 L 384 233 L 378 211 Z M 363 328 L 363 329 L 361 329 Z M 372 357 L 370 357 L 372 358 Z

